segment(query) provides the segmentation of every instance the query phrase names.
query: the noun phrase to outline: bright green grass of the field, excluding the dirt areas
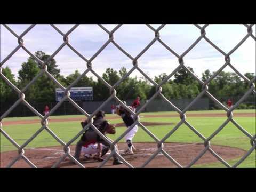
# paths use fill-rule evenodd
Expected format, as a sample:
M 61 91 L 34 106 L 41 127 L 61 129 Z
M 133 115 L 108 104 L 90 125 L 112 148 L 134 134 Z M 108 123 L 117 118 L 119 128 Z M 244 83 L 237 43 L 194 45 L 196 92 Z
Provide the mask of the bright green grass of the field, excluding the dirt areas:
M 188 111 L 187 114 L 209 114 L 209 113 L 224 113 L 222 110 L 214 111 Z M 255 110 L 235 110 L 236 113 L 255 113 Z M 162 114 L 177 114 L 176 112 L 159 112 L 159 113 L 141 113 L 141 121 L 144 122 L 169 122 L 174 123 L 173 125 L 164 125 L 164 126 L 147 126 L 149 131 L 154 133 L 158 139 L 162 139 L 168 132 L 173 129 L 173 127 L 180 121 L 179 117 L 154 117 L 154 118 L 145 118 L 143 115 L 162 115 Z M 111 114 L 106 115 L 106 119 Z M 77 118 L 84 117 L 83 115 L 69 115 L 69 116 L 52 116 L 51 119 L 55 118 Z M 116 116 L 118 117 L 118 116 Z M 15 117 L 15 118 L 4 118 L 3 122 L 7 121 L 22 121 L 29 119 L 39 119 L 38 117 Z M 204 137 L 209 137 L 218 127 L 227 119 L 227 117 L 187 117 L 187 121 L 193 125 L 199 132 L 201 132 Z M 251 135 L 255 134 L 255 116 L 254 117 L 236 117 L 234 115 L 235 121 L 241 125 L 247 132 Z M 110 123 L 120 123 L 122 119 L 109 119 Z M 35 124 L 22 124 L 22 125 L 4 125 L 3 130 L 9 134 L 19 145 L 22 145 L 31 135 L 33 135 L 41 127 L 40 123 Z M 64 142 L 69 141 L 81 130 L 80 122 L 49 122 L 50 129 L 59 136 Z M 110 138 L 116 139 L 126 130 L 125 127 L 118 127 L 117 133 L 115 135 L 110 135 Z M 3 136 L 0 134 L 0 150 L 10 151 L 15 150 L 16 148 Z M 148 134 L 146 134 L 141 128 L 139 128 L 137 134 L 135 135 L 133 142 L 150 142 L 154 141 Z M 169 142 L 202 142 L 202 140 L 191 131 L 186 125 L 179 127 L 171 137 L 166 141 Z M 122 139 L 120 142 L 125 142 Z M 76 141 L 73 143 L 75 144 Z M 240 130 L 237 129 L 232 123 L 228 123 L 219 134 L 217 134 L 212 140 L 212 145 L 223 145 L 237 147 L 244 150 L 249 150 L 251 148 L 250 139 L 244 135 Z M 51 135 L 45 130 L 42 131 L 33 141 L 29 143 L 27 147 L 46 147 L 46 146 L 57 146 L 60 145 Z M 256 154 L 255 150 L 247 159 L 238 167 L 256 167 Z M 239 158 L 238 158 L 239 159 Z M 228 161 L 229 164 L 233 165 L 238 161 L 238 159 L 233 159 Z M 225 167 L 221 163 L 212 163 L 212 164 L 201 164 L 194 165 L 193 167 Z

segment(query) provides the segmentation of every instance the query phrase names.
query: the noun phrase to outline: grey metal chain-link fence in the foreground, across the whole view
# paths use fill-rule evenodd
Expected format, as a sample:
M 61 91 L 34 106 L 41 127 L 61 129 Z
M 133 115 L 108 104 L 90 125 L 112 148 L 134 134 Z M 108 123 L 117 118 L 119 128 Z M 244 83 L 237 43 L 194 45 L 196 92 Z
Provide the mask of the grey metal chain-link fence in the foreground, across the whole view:
M 33 162 L 31 162 L 25 155 L 25 147 L 28 145 L 29 142 L 31 142 L 34 138 L 37 137 L 37 135 L 39 133 L 41 133 L 43 130 L 46 130 L 47 132 L 49 132 L 52 137 L 57 140 L 60 145 L 63 146 L 63 151 L 65 154 L 63 154 L 61 156 L 61 158 L 59 159 L 59 161 L 57 163 L 55 163 L 52 167 L 58 167 L 60 165 L 60 163 L 62 161 L 64 161 L 64 159 L 66 157 L 69 157 L 71 159 L 71 161 L 75 162 L 77 165 L 79 165 L 80 167 L 84 167 L 83 164 L 79 163 L 74 157 L 73 155 L 71 155 L 70 153 L 70 145 L 71 143 L 73 143 L 79 136 L 81 136 L 83 134 L 83 132 L 87 129 L 87 127 L 91 126 L 93 128 L 93 130 L 95 132 L 97 132 L 100 137 L 105 140 L 106 142 L 108 142 L 110 144 L 110 148 L 111 148 L 111 153 L 110 155 L 105 159 L 105 161 L 103 161 L 102 163 L 100 163 L 99 167 L 102 167 L 103 165 L 106 164 L 107 161 L 109 161 L 109 159 L 111 157 L 113 157 L 114 154 L 117 155 L 118 158 L 121 159 L 121 161 L 123 161 L 125 163 L 125 165 L 127 165 L 127 167 L 133 167 L 132 164 L 130 164 L 129 162 L 127 162 L 119 153 L 117 153 L 115 144 L 120 141 L 131 129 L 134 125 L 139 125 L 141 127 L 142 130 L 144 130 L 151 138 L 153 138 L 156 142 L 156 146 L 157 146 L 157 150 L 155 151 L 155 153 L 153 155 L 151 155 L 147 161 L 145 163 L 142 164 L 141 167 L 145 167 L 146 165 L 149 164 L 149 162 L 151 162 L 156 155 L 158 155 L 159 153 L 162 153 L 165 157 L 167 157 L 172 163 L 174 163 L 177 167 L 183 167 L 182 165 L 179 164 L 179 162 L 177 162 L 172 156 L 170 156 L 168 153 L 166 153 L 166 151 L 164 150 L 164 142 L 166 141 L 167 138 L 169 138 L 175 131 L 177 131 L 179 129 L 179 127 L 182 124 L 185 124 L 189 127 L 189 129 L 191 129 L 196 135 L 198 135 L 199 138 L 202 139 L 202 142 L 204 143 L 204 149 L 201 151 L 201 153 L 199 153 L 199 155 L 197 155 L 193 161 L 191 161 L 186 167 L 191 167 L 193 166 L 199 158 L 201 158 L 206 151 L 209 151 L 213 156 L 215 156 L 219 162 L 221 162 L 223 165 L 225 165 L 226 167 L 237 167 L 239 164 L 241 164 L 246 158 L 247 156 L 249 156 L 253 150 L 255 150 L 255 146 L 256 146 L 256 139 L 255 139 L 255 135 L 251 135 L 250 133 L 248 133 L 241 125 L 239 125 L 235 119 L 233 118 L 233 110 L 236 109 L 238 107 L 238 105 L 240 103 L 242 103 L 247 97 L 249 97 L 250 94 L 254 94 L 256 93 L 255 90 L 255 80 L 256 77 L 254 76 L 253 79 L 248 79 L 247 77 L 245 77 L 244 75 L 242 75 L 241 73 L 239 73 L 239 71 L 231 64 L 231 59 L 230 56 L 238 49 L 239 46 L 241 46 L 247 38 L 252 38 L 254 39 L 254 41 L 256 41 L 255 36 L 252 34 L 253 32 L 253 27 L 254 24 L 251 25 L 244 25 L 244 29 L 247 30 L 247 34 L 244 36 L 244 38 L 232 49 L 230 50 L 228 53 L 225 53 L 224 51 L 222 51 L 220 49 L 220 47 L 218 47 L 217 45 L 215 45 L 209 38 L 207 38 L 206 36 L 206 29 L 207 26 L 209 25 L 204 25 L 203 27 L 195 24 L 194 26 L 196 28 L 198 28 L 198 38 L 196 39 L 196 41 L 190 45 L 188 47 L 188 49 L 183 52 L 181 55 L 177 54 L 174 50 L 171 49 L 171 47 L 169 47 L 168 45 L 166 45 L 162 39 L 161 39 L 161 29 L 163 29 L 165 27 L 165 25 L 161 25 L 159 26 L 157 29 L 155 29 L 154 27 L 152 27 L 151 25 L 146 25 L 149 30 L 152 31 L 152 33 L 155 34 L 155 38 L 152 39 L 152 41 L 136 56 L 136 57 L 132 57 L 129 53 L 127 53 L 121 46 L 119 46 L 116 42 L 115 42 L 115 32 L 122 26 L 122 25 L 117 25 L 113 30 L 109 31 L 108 29 L 106 29 L 104 26 L 102 25 L 98 25 L 102 30 L 104 30 L 106 32 L 106 35 L 108 35 L 109 39 L 108 41 L 103 44 L 102 47 L 100 47 L 100 49 L 90 58 L 90 59 L 86 59 L 81 53 L 79 53 L 75 47 L 73 47 L 71 45 L 71 43 L 69 42 L 69 38 L 68 36 L 73 33 L 73 31 L 79 26 L 79 25 L 74 25 L 70 30 L 67 31 L 67 33 L 63 33 L 58 27 L 56 27 L 55 25 L 51 25 L 56 31 L 58 31 L 59 34 L 61 34 L 63 36 L 63 43 L 60 45 L 60 47 L 51 55 L 51 57 L 46 60 L 45 62 L 41 61 L 40 59 L 38 59 L 33 53 L 31 53 L 27 48 L 26 48 L 26 44 L 23 41 L 23 37 L 30 31 L 32 30 L 35 25 L 31 25 L 29 26 L 25 31 L 23 31 L 23 33 L 19 36 L 17 35 L 9 26 L 7 25 L 3 25 L 7 30 L 9 30 L 15 37 L 17 37 L 18 39 L 18 46 L 9 54 L 7 55 L 6 58 L 4 58 L 3 61 L 1 61 L 0 63 L 0 75 L 1 78 L 14 90 L 19 94 L 19 99 L 8 109 L 5 111 L 5 113 L 0 117 L 0 131 L 1 133 L 4 135 L 4 137 L 6 137 L 15 147 L 17 147 L 18 149 L 18 156 L 15 157 L 13 159 L 13 161 L 11 161 L 7 167 L 12 167 L 12 165 L 19 161 L 19 159 L 24 159 L 31 167 L 36 167 Z M 205 39 L 206 42 L 208 42 L 211 46 L 213 46 L 216 50 L 218 50 L 222 55 L 223 55 L 223 59 L 225 60 L 224 64 L 221 66 L 221 68 L 219 70 L 217 70 L 209 79 L 207 79 L 205 82 L 201 81 L 201 79 L 199 79 L 192 71 L 190 71 L 188 69 L 188 67 L 185 65 L 185 60 L 183 60 L 183 57 L 185 57 L 185 55 L 187 53 L 189 53 L 193 47 L 200 42 L 202 39 Z M 150 46 L 152 46 L 155 42 L 159 42 L 161 43 L 167 50 L 170 51 L 170 54 L 175 55 L 175 57 L 177 57 L 177 61 L 179 62 L 179 66 L 177 68 L 175 68 L 161 83 L 157 84 L 153 79 L 151 79 L 141 68 L 138 62 L 138 59 L 141 57 L 141 55 L 143 55 Z M 94 70 L 93 70 L 93 60 L 95 58 L 97 58 L 97 56 L 99 55 L 99 53 L 105 49 L 105 47 L 112 43 L 113 45 L 115 45 L 117 47 L 117 49 L 119 51 L 121 51 L 122 53 L 124 53 L 127 58 L 129 58 L 131 60 L 131 65 L 133 65 L 132 69 L 128 71 L 128 73 L 123 76 L 118 82 L 116 82 L 113 86 L 109 85 L 102 77 L 100 77 L 99 74 L 97 74 Z M 71 83 L 68 87 L 64 87 L 62 86 L 57 79 L 55 79 L 50 73 L 49 71 L 47 71 L 47 62 L 49 62 L 52 58 L 54 58 L 55 55 L 57 55 L 59 53 L 59 51 L 61 49 L 63 49 L 63 47 L 68 46 L 71 50 L 73 50 L 80 58 L 82 58 L 86 64 L 87 64 L 87 69 L 81 74 L 81 76 L 79 76 L 73 83 Z M 39 64 L 42 65 L 42 69 L 41 71 L 39 71 L 39 73 L 33 78 L 33 80 L 31 82 L 29 82 L 22 90 L 19 90 L 15 85 L 13 85 L 9 79 L 7 79 L 3 73 L 2 73 L 2 66 L 4 65 L 4 63 L 9 60 L 12 55 L 17 52 L 19 49 L 23 49 L 25 50 L 31 57 L 33 57 Z M 253 63 L 252 63 L 253 64 Z M 223 105 L 218 99 L 214 98 L 213 95 L 208 91 L 208 85 L 209 83 L 212 81 L 212 79 L 214 77 L 216 77 L 226 66 L 231 67 L 241 78 L 244 79 L 245 82 L 247 82 L 250 86 L 250 89 L 247 90 L 247 92 L 244 94 L 244 96 L 239 99 L 233 107 L 231 108 L 227 108 L 225 105 Z M 177 71 L 179 69 L 185 69 L 188 71 L 188 73 L 194 78 L 196 79 L 196 81 L 202 85 L 202 91 L 197 95 L 197 97 L 191 101 L 183 110 L 180 110 L 177 106 L 175 106 L 171 101 L 169 101 L 168 99 L 165 98 L 165 96 L 161 93 L 162 92 L 162 85 L 164 83 L 166 83 L 168 81 L 168 79 L 170 79 L 175 73 L 177 73 Z M 156 91 L 155 94 L 148 100 L 148 102 L 144 103 L 144 105 L 137 111 L 137 113 L 134 113 L 131 109 L 129 109 L 119 98 L 116 97 L 116 87 L 124 81 L 125 78 L 127 78 L 131 73 L 133 73 L 134 70 L 138 70 L 144 77 L 146 77 L 148 79 L 148 81 L 150 83 L 152 83 L 154 86 L 156 86 Z M 77 103 L 72 100 L 70 98 L 70 92 L 69 90 L 71 89 L 71 87 L 73 87 L 83 76 L 85 76 L 87 73 L 89 73 L 89 71 L 95 75 L 98 79 L 100 79 L 100 81 L 105 84 L 111 95 L 110 97 L 104 101 L 100 107 L 98 107 L 95 111 L 93 111 L 92 114 L 88 114 L 83 108 L 81 108 L 80 106 L 77 105 Z M 46 74 L 58 87 L 60 87 L 64 93 L 65 93 L 65 97 L 63 97 L 63 99 L 61 101 L 59 101 L 57 103 L 57 105 L 55 105 L 49 114 L 43 116 L 41 115 L 41 113 L 39 113 L 39 111 L 37 111 L 33 106 L 31 106 L 25 99 L 26 95 L 25 95 L 25 91 L 32 85 L 34 84 L 37 79 L 39 77 L 41 77 L 43 74 Z M 225 122 L 223 122 L 220 127 L 218 127 L 217 130 L 215 130 L 209 137 L 204 137 L 203 134 L 201 134 L 199 131 L 197 131 L 197 129 L 192 126 L 186 119 L 186 112 L 191 108 L 191 106 L 194 105 L 194 103 L 196 103 L 200 98 L 202 98 L 203 96 L 207 96 L 210 100 L 212 100 L 216 105 L 218 105 L 221 109 L 225 110 L 227 112 L 227 119 Z M 172 130 L 170 130 L 169 133 L 167 133 L 165 135 L 164 138 L 157 138 L 153 133 L 151 133 L 146 126 L 144 126 L 141 122 L 140 122 L 140 113 L 145 110 L 145 108 L 157 97 L 162 98 L 165 102 L 166 105 L 169 105 L 170 107 L 173 108 L 173 110 L 177 111 L 177 113 L 180 116 L 180 121 L 177 125 L 175 125 L 173 127 Z M 126 110 L 128 110 L 131 114 L 134 115 L 135 117 L 135 122 L 133 123 L 133 125 L 130 126 L 129 129 L 127 129 L 124 133 L 122 133 L 115 141 L 110 141 L 107 137 L 105 137 L 105 135 L 103 135 L 101 132 L 98 131 L 98 129 L 93 125 L 93 116 L 95 114 L 98 113 L 99 110 L 101 110 L 104 106 L 107 105 L 108 102 L 110 102 L 111 100 L 115 100 L 117 103 L 119 103 L 121 106 L 123 106 Z M 61 104 L 64 101 L 69 101 L 71 103 L 71 105 L 73 105 L 78 111 L 80 111 L 83 115 L 85 115 L 87 117 L 87 121 L 89 122 L 84 128 L 83 130 L 81 130 L 79 133 L 77 133 L 76 135 L 74 135 L 74 137 L 66 142 L 63 142 L 58 135 L 56 135 L 51 129 L 50 129 L 50 124 L 47 121 L 47 118 L 49 116 L 51 116 L 55 110 L 57 110 Z M 19 145 L 17 142 L 15 142 L 10 136 L 9 134 L 7 134 L 4 129 L 3 129 L 3 125 L 2 125 L 2 120 L 11 113 L 11 111 L 17 107 L 20 103 L 22 103 L 23 105 L 27 106 L 36 116 L 38 116 L 39 118 L 41 118 L 41 127 L 38 127 L 38 130 L 26 141 L 24 142 L 22 145 Z M 234 165 L 230 165 L 229 163 L 227 163 L 223 158 L 221 158 L 221 156 L 219 156 L 217 153 L 215 153 L 215 151 L 211 148 L 211 140 L 215 137 L 215 135 L 217 135 L 229 122 L 233 123 L 237 129 L 239 129 L 240 131 L 242 131 L 246 137 L 249 138 L 249 142 L 250 145 L 252 146 L 245 154 L 244 156 L 239 159 L 239 161 L 237 161 L 237 163 L 235 163 Z

